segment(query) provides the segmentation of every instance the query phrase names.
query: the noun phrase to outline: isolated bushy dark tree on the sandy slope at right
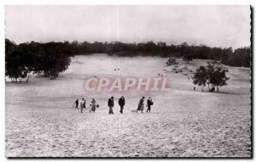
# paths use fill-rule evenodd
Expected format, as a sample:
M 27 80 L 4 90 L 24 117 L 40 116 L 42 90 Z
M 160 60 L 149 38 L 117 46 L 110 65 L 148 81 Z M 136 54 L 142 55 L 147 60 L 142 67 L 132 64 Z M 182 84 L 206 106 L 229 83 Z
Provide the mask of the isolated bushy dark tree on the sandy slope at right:
M 226 76 L 229 70 L 224 68 L 224 66 L 216 61 L 208 62 L 207 66 L 200 66 L 199 69 L 195 71 L 193 76 L 193 83 L 195 85 L 203 87 L 208 87 L 208 90 L 216 89 L 218 92 L 219 87 L 227 85 L 229 78 Z

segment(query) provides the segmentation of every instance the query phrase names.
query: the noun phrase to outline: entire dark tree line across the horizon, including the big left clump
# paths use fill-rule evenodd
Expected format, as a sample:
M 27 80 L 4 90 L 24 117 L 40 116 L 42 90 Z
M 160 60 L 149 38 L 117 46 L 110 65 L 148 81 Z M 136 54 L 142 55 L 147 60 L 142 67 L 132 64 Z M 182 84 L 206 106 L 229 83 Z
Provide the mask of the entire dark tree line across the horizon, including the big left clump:
M 167 45 L 166 42 L 25 42 L 16 44 L 5 39 L 5 74 L 13 81 L 22 81 L 30 72 L 54 79 L 67 70 L 71 57 L 107 53 L 116 56 L 159 56 L 191 59 L 212 59 L 231 66 L 250 67 L 250 47 L 207 47 L 205 45 Z

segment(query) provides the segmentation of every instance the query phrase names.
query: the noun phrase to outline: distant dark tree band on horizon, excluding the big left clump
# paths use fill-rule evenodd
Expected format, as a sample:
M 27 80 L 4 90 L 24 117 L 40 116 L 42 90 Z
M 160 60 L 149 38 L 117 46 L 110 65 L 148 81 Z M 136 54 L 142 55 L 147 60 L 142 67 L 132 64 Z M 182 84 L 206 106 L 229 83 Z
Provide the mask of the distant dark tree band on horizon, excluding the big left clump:
M 212 59 L 231 66 L 249 67 L 250 47 L 242 47 L 234 52 L 231 47 L 195 46 L 183 42 L 181 45 L 166 45 L 166 42 L 72 42 L 71 50 L 75 54 L 108 53 L 117 56 L 160 56 L 183 57 L 189 64 L 192 59 Z M 242 58 L 242 59 L 241 59 Z

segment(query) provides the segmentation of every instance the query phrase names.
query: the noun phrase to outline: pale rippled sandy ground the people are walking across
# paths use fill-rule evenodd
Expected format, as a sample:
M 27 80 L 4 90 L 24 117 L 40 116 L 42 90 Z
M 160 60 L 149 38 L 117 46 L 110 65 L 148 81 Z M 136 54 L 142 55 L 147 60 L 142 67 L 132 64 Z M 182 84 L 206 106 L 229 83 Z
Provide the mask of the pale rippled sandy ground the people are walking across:
M 199 88 L 194 92 L 187 76 L 162 71 L 170 68 L 165 62 L 160 58 L 77 56 L 55 81 L 33 76 L 28 83 L 7 82 L 6 156 L 250 157 L 250 71 L 229 67 L 229 86 L 221 92 Z M 188 67 L 195 69 L 205 62 L 194 60 Z M 88 93 L 83 88 L 90 75 L 158 73 L 170 79 L 172 91 Z M 114 115 L 108 115 L 111 95 L 115 97 Z M 121 95 L 126 99 L 123 115 L 117 105 Z M 142 95 L 153 97 L 150 114 L 131 112 Z M 85 98 L 87 105 L 96 98 L 100 108 L 81 114 L 73 108 L 76 98 Z

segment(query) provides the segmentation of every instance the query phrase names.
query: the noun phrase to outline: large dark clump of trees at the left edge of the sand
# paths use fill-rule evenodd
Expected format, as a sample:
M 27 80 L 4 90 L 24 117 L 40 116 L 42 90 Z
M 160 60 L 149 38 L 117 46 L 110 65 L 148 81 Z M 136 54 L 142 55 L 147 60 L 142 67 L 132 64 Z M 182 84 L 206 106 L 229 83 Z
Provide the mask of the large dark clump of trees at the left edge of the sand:
M 29 42 L 15 45 L 5 40 L 5 75 L 12 81 L 22 81 L 30 72 L 44 74 L 54 79 L 67 70 L 73 56 L 73 44 L 69 42 Z

